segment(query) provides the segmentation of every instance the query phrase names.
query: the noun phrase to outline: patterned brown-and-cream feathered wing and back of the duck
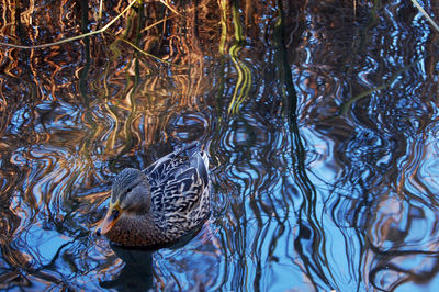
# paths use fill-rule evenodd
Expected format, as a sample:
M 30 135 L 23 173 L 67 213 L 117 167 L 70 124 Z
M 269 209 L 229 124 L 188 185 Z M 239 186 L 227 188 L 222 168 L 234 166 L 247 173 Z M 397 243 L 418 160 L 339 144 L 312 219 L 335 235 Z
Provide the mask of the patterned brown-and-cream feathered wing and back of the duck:
M 210 214 L 209 160 L 198 143 L 180 148 L 144 170 L 151 190 L 153 214 L 158 225 L 190 229 Z

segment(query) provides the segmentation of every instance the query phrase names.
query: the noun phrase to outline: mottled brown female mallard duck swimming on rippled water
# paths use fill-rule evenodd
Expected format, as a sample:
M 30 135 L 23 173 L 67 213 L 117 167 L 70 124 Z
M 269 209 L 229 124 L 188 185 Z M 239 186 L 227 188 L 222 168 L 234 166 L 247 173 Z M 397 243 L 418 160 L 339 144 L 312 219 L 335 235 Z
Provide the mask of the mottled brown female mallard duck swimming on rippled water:
M 122 170 L 97 235 L 122 246 L 165 246 L 201 227 L 211 211 L 207 169 L 194 143 L 144 170 Z

